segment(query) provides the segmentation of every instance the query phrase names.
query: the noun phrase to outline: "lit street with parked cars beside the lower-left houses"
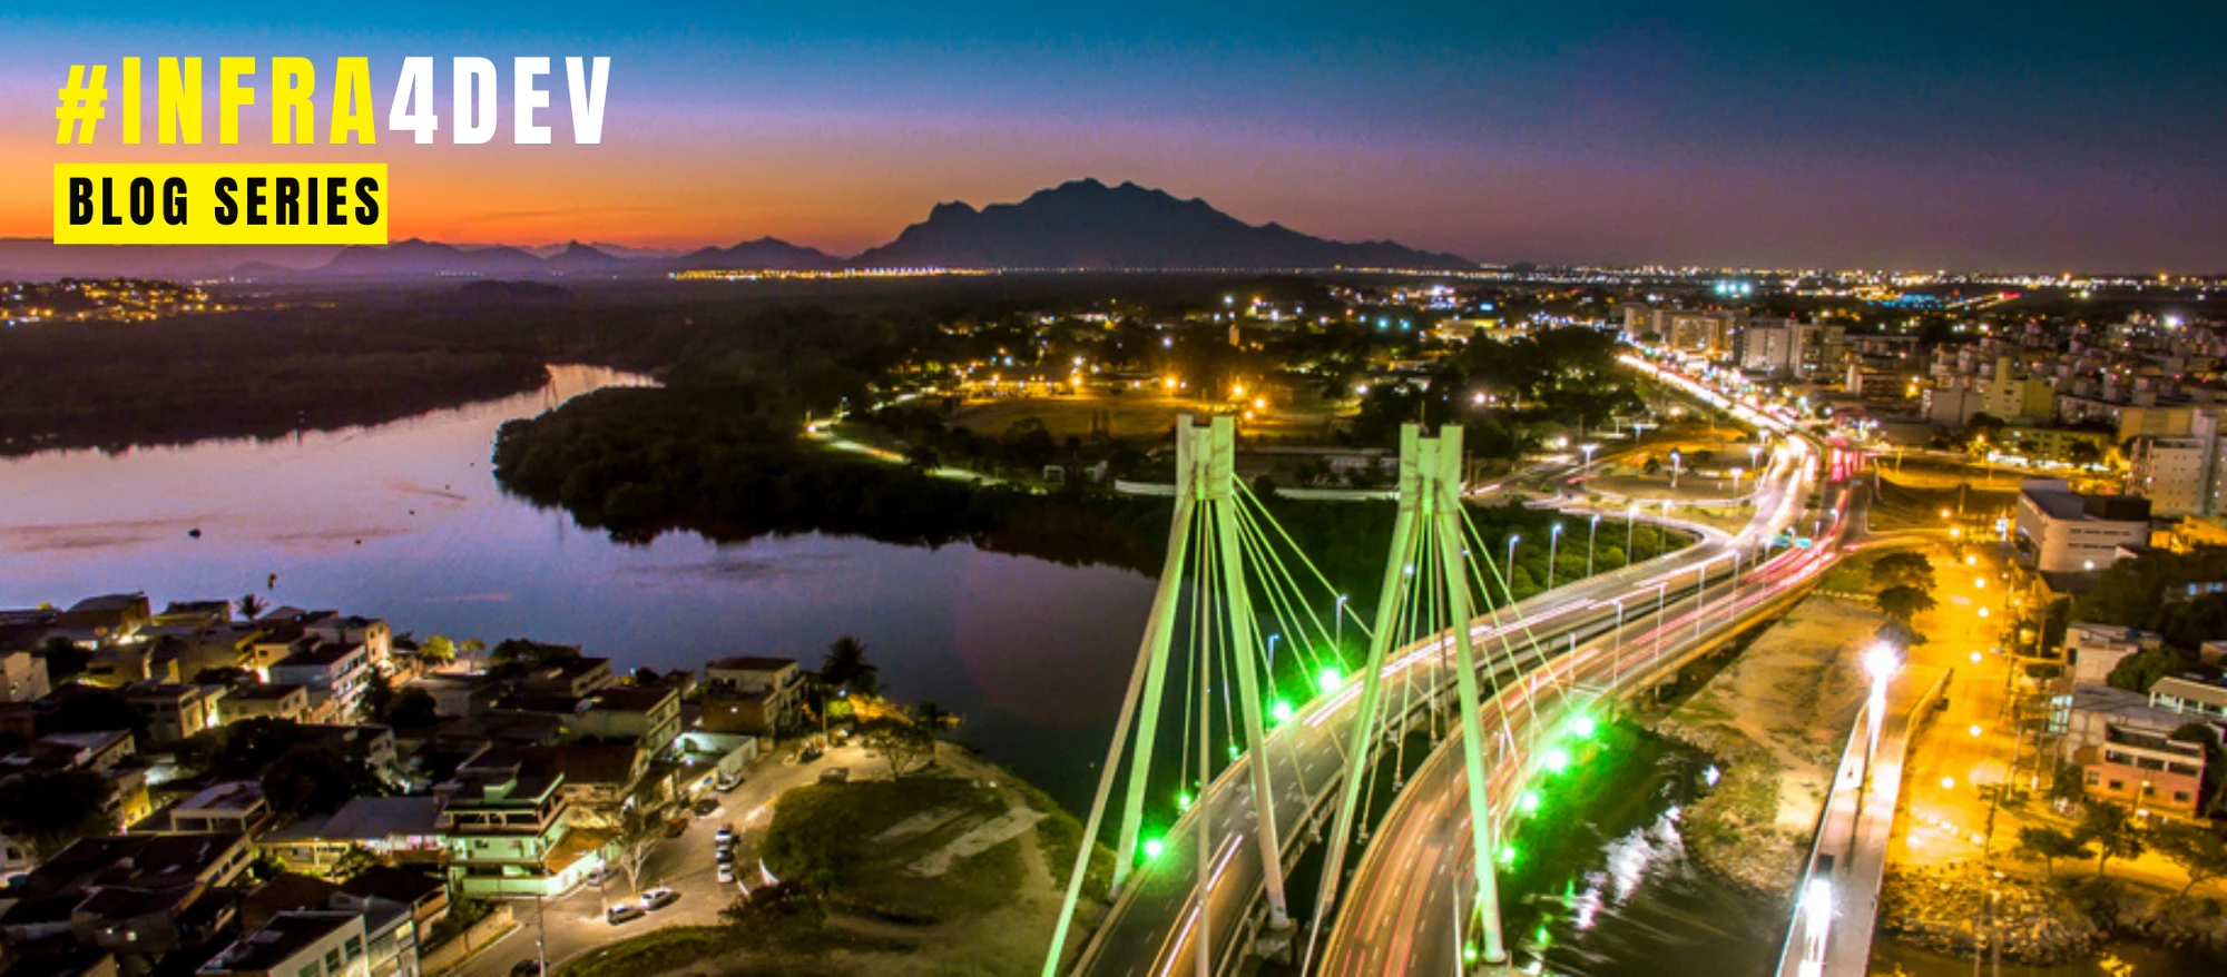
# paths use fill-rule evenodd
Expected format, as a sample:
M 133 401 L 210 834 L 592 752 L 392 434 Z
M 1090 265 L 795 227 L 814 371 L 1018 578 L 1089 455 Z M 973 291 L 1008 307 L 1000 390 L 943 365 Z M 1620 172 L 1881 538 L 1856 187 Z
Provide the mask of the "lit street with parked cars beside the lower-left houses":
M 653 928 L 717 924 L 719 910 L 733 904 L 739 890 L 717 879 L 713 835 L 722 823 L 735 823 L 739 835 L 737 866 L 744 870 L 742 879 L 755 886 L 757 850 L 766 839 L 766 826 L 773 823 L 773 801 L 788 788 L 815 781 L 828 768 L 848 768 L 853 777 L 882 777 L 889 766 L 869 759 L 860 746 L 833 748 L 815 763 L 795 763 L 795 748 L 759 759 L 744 774 L 739 788 L 719 795 L 719 810 L 693 819 L 681 837 L 659 843 L 644 861 L 641 886 L 670 886 L 681 895 L 679 901 L 630 924 L 606 924 L 604 906 L 635 899 L 626 872 L 619 872 L 601 890 L 592 884 L 581 886 L 541 906 L 534 899 L 510 899 L 519 928 L 479 950 L 454 973 L 459 977 L 508 977 L 512 966 L 534 959 L 537 932 L 548 932 L 548 966 L 555 973 L 575 957 Z

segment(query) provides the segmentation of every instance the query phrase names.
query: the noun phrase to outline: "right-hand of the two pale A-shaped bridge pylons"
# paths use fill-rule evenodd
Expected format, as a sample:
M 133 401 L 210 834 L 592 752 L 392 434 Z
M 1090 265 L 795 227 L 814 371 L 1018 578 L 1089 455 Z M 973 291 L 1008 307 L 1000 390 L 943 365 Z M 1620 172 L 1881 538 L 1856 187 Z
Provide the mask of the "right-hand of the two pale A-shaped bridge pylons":
M 1367 770 L 1374 763 L 1372 746 L 1385 734 L 1381 728 L 1385 712 L 1383 672 L 1392 648 L 1405 641 L 1401 628 L 1403 608 L 1432 603 L 1419 599 L 1434 599 L 1443 601 L 1445 630 L 1454 645 L 1454 694 L 1461 717 L 1461 761 L 1468 777 L 1479 939 L 1485 964 L 1503 964 L 1508 961 L 1508 948 L 1501 939 L 1501 899 L 1494 859 L 1499 839 L 1485 783 L 1483 699 L 1472 636 L 1477 608 L 1472 605 L 1474 594 L 1470 590 L 1470 547 L 1463 543 L 1461 530 L 1461 427 L 1441 425 L 1436 436 L 1425 436 L 1421 425 L 1401 425 L 1399 516 L 1392 525 L 1383 594 L 1376 601 L 1376 625 L 1370 630 L 1370 654 L 1361 670 L 1361 701 L 1345 750 L 1345 779 L 1330 828 L 1330 852 L 1323 861 L 1312 932 L 1321 935 L 1336 901 Z M 1477 561 L 1485 563 L 1490 556 L 1479 554 Z M 1436 594 L 1419 594 L 1419 590 L 1436 590 Z M 1307 959 L 1301 973 L 1314 964 L 1312 955 L 1314 939 L 1309 935 Z

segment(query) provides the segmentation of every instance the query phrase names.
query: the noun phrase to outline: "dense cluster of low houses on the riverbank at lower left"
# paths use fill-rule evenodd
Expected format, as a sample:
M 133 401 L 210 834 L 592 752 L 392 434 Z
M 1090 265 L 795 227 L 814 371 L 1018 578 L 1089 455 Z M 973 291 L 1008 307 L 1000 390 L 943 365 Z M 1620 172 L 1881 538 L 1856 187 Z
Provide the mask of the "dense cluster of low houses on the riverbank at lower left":
M 828 712 L 795 659 L 619 674 L 254 596 L 0 610 L 0 950 L 38 977 L 416 977 L 583 886 L 617 924 L 648 852 Z

